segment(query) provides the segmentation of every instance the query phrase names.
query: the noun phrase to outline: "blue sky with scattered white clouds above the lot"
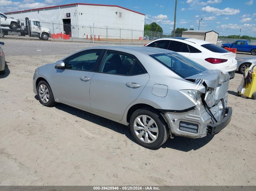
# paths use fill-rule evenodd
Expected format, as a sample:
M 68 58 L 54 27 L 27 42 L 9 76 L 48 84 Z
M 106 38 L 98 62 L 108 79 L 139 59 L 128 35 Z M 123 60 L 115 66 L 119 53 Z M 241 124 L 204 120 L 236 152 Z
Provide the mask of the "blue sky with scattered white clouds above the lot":
M 0 0 L 0 12 L 19 11 L 51 5 L 93 3 L 119 5 L 145 14 L 145 22 L 159 22 L 165 33 L 173 29 L 175 0 Z M 168 3 L 168 5 L 167 5 Z M 166 10 L 165 10 L 166 7 Z M 178 0 L 176 27 L 215 30 L 221 36 L 248 35 L 256 37 L 256 0 Z M 164 12 L 165 10 L 165 12 Z

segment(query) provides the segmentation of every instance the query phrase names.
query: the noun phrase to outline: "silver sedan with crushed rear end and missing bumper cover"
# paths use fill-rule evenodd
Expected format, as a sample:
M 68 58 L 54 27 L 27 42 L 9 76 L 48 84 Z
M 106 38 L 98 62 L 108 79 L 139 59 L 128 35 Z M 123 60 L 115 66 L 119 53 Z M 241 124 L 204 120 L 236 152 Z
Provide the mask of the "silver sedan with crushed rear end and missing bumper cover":
M 135 141 L 158 148 L 168 137 L 201 138 L 228 125 L 229 74 L 170 50 L 98 46 L 35 69 L 44 106 L 64 103 L 129 125 Z

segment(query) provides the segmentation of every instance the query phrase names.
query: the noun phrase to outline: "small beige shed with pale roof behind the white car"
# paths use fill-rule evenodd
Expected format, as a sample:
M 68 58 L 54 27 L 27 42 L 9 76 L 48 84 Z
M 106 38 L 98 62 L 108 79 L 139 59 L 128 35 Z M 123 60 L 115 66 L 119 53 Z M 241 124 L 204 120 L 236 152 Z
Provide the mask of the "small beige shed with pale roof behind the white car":
M 181 37 L 195 38 L 217 44 L 219 33 L 214 30 L 186 30 L 181 33 Z

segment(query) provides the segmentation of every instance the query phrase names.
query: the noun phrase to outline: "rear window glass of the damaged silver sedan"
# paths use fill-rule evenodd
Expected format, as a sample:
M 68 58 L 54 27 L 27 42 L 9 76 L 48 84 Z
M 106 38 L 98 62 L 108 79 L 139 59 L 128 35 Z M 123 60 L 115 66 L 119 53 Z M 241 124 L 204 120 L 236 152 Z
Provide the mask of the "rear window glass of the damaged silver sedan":
M 182 78 L 187 78 L 207 70 L 200 64 L 178 53 L 161 53 L 150 56 Z

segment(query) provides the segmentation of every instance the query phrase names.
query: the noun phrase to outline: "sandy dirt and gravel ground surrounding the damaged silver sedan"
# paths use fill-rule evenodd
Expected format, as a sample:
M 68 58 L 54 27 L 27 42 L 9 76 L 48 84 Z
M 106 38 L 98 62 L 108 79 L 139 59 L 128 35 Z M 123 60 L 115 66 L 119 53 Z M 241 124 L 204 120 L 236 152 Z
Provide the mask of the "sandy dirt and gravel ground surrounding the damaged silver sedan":
M 256 185 L 256 100 L 237 96 L 242 75 L 230 81 L 233 116 L 225 129 L 149 150 L 126 126 L 64 104 L 43 107 L 36 99 L 35 68 L 93 44 L 3 41 L 0 185 Z

